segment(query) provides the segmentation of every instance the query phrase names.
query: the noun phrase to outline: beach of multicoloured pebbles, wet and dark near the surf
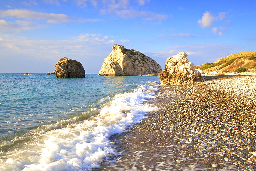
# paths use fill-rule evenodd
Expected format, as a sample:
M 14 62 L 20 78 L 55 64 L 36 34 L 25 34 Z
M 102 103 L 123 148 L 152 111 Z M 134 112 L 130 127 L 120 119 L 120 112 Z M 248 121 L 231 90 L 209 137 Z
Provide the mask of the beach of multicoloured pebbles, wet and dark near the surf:
M 111 138 L 122 154 L 100 170 L 256 170 L 255 76 L 158 88 L 146 102 L 157 109 Z

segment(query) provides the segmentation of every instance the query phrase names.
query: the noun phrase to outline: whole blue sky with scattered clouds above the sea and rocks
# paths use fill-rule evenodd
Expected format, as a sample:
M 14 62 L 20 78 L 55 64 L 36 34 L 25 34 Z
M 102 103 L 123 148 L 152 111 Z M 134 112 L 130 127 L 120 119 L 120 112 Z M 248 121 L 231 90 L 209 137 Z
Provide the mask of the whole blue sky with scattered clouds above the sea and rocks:
M 47 73 L 62 57 L 98 73 L 117 43 L 194 65 L 256 50 L 256 1 L 1 0 L 0 73 Z

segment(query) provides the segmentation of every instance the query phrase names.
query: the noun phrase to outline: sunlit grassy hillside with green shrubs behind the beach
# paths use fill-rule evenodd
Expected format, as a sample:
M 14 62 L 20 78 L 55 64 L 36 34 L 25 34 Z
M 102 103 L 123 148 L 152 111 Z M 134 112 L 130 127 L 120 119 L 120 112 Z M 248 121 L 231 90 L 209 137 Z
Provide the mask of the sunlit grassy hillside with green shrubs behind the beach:
M 240 67 L 246 69 L 244 72 L 256 72 L 256 51 L 232 54 L 214 63 L 197 65 L 195 69 L 200 68 L 204 72 L 218 71 L 220 69 L 234 72 Z

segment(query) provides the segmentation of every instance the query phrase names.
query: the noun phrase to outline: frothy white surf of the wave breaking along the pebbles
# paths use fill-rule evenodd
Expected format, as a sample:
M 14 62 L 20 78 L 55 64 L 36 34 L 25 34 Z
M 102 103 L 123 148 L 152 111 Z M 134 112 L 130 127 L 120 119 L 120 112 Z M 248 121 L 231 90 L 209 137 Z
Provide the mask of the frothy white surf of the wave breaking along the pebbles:
M 68 121 L 66 127 L 56 126 L 61 125 L 60 121 L 45 125 L 45 130 L 35 132 L 31 138 L 21 138 L 12 148 L 0 152 L 0 170 L 90 170 L 99 167 L 103 159 L 120 154 L 111 147 L 113 143 L 108 138 L 141 122 L 146 112 L 155 109 L 143 104 L 157 91 L 154 87 L 157 83 L 150 84 L 132 93 L 116 95 L 98 115 L 85 121 Z

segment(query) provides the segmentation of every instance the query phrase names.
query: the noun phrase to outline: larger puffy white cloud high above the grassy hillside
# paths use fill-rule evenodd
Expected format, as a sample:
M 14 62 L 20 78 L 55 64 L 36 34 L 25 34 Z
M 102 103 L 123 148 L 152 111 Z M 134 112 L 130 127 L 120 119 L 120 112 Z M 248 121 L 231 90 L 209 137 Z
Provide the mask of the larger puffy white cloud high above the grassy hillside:
M 199 19 L 197 22 L 201 25 L 202 28 L 211 27 L 212 23 L 216 20 L 222 20 L 226 16 L 225 12 L 219 13 L 219 16 L 214 17 L 210 12 L 206 11 L 202 19 Z

